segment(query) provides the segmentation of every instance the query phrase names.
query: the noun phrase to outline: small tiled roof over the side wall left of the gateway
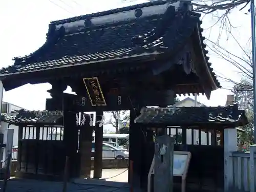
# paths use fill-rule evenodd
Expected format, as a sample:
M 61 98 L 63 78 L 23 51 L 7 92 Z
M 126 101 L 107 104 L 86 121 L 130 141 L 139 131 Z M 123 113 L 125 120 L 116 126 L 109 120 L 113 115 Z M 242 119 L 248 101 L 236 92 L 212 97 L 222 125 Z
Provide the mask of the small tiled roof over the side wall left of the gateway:
M 27 111 L 19 110 L 12 113 L 3 113 L 1 120 L 10 124 L 54 124 L 59 118 L 63 117 L 62 111 Z

